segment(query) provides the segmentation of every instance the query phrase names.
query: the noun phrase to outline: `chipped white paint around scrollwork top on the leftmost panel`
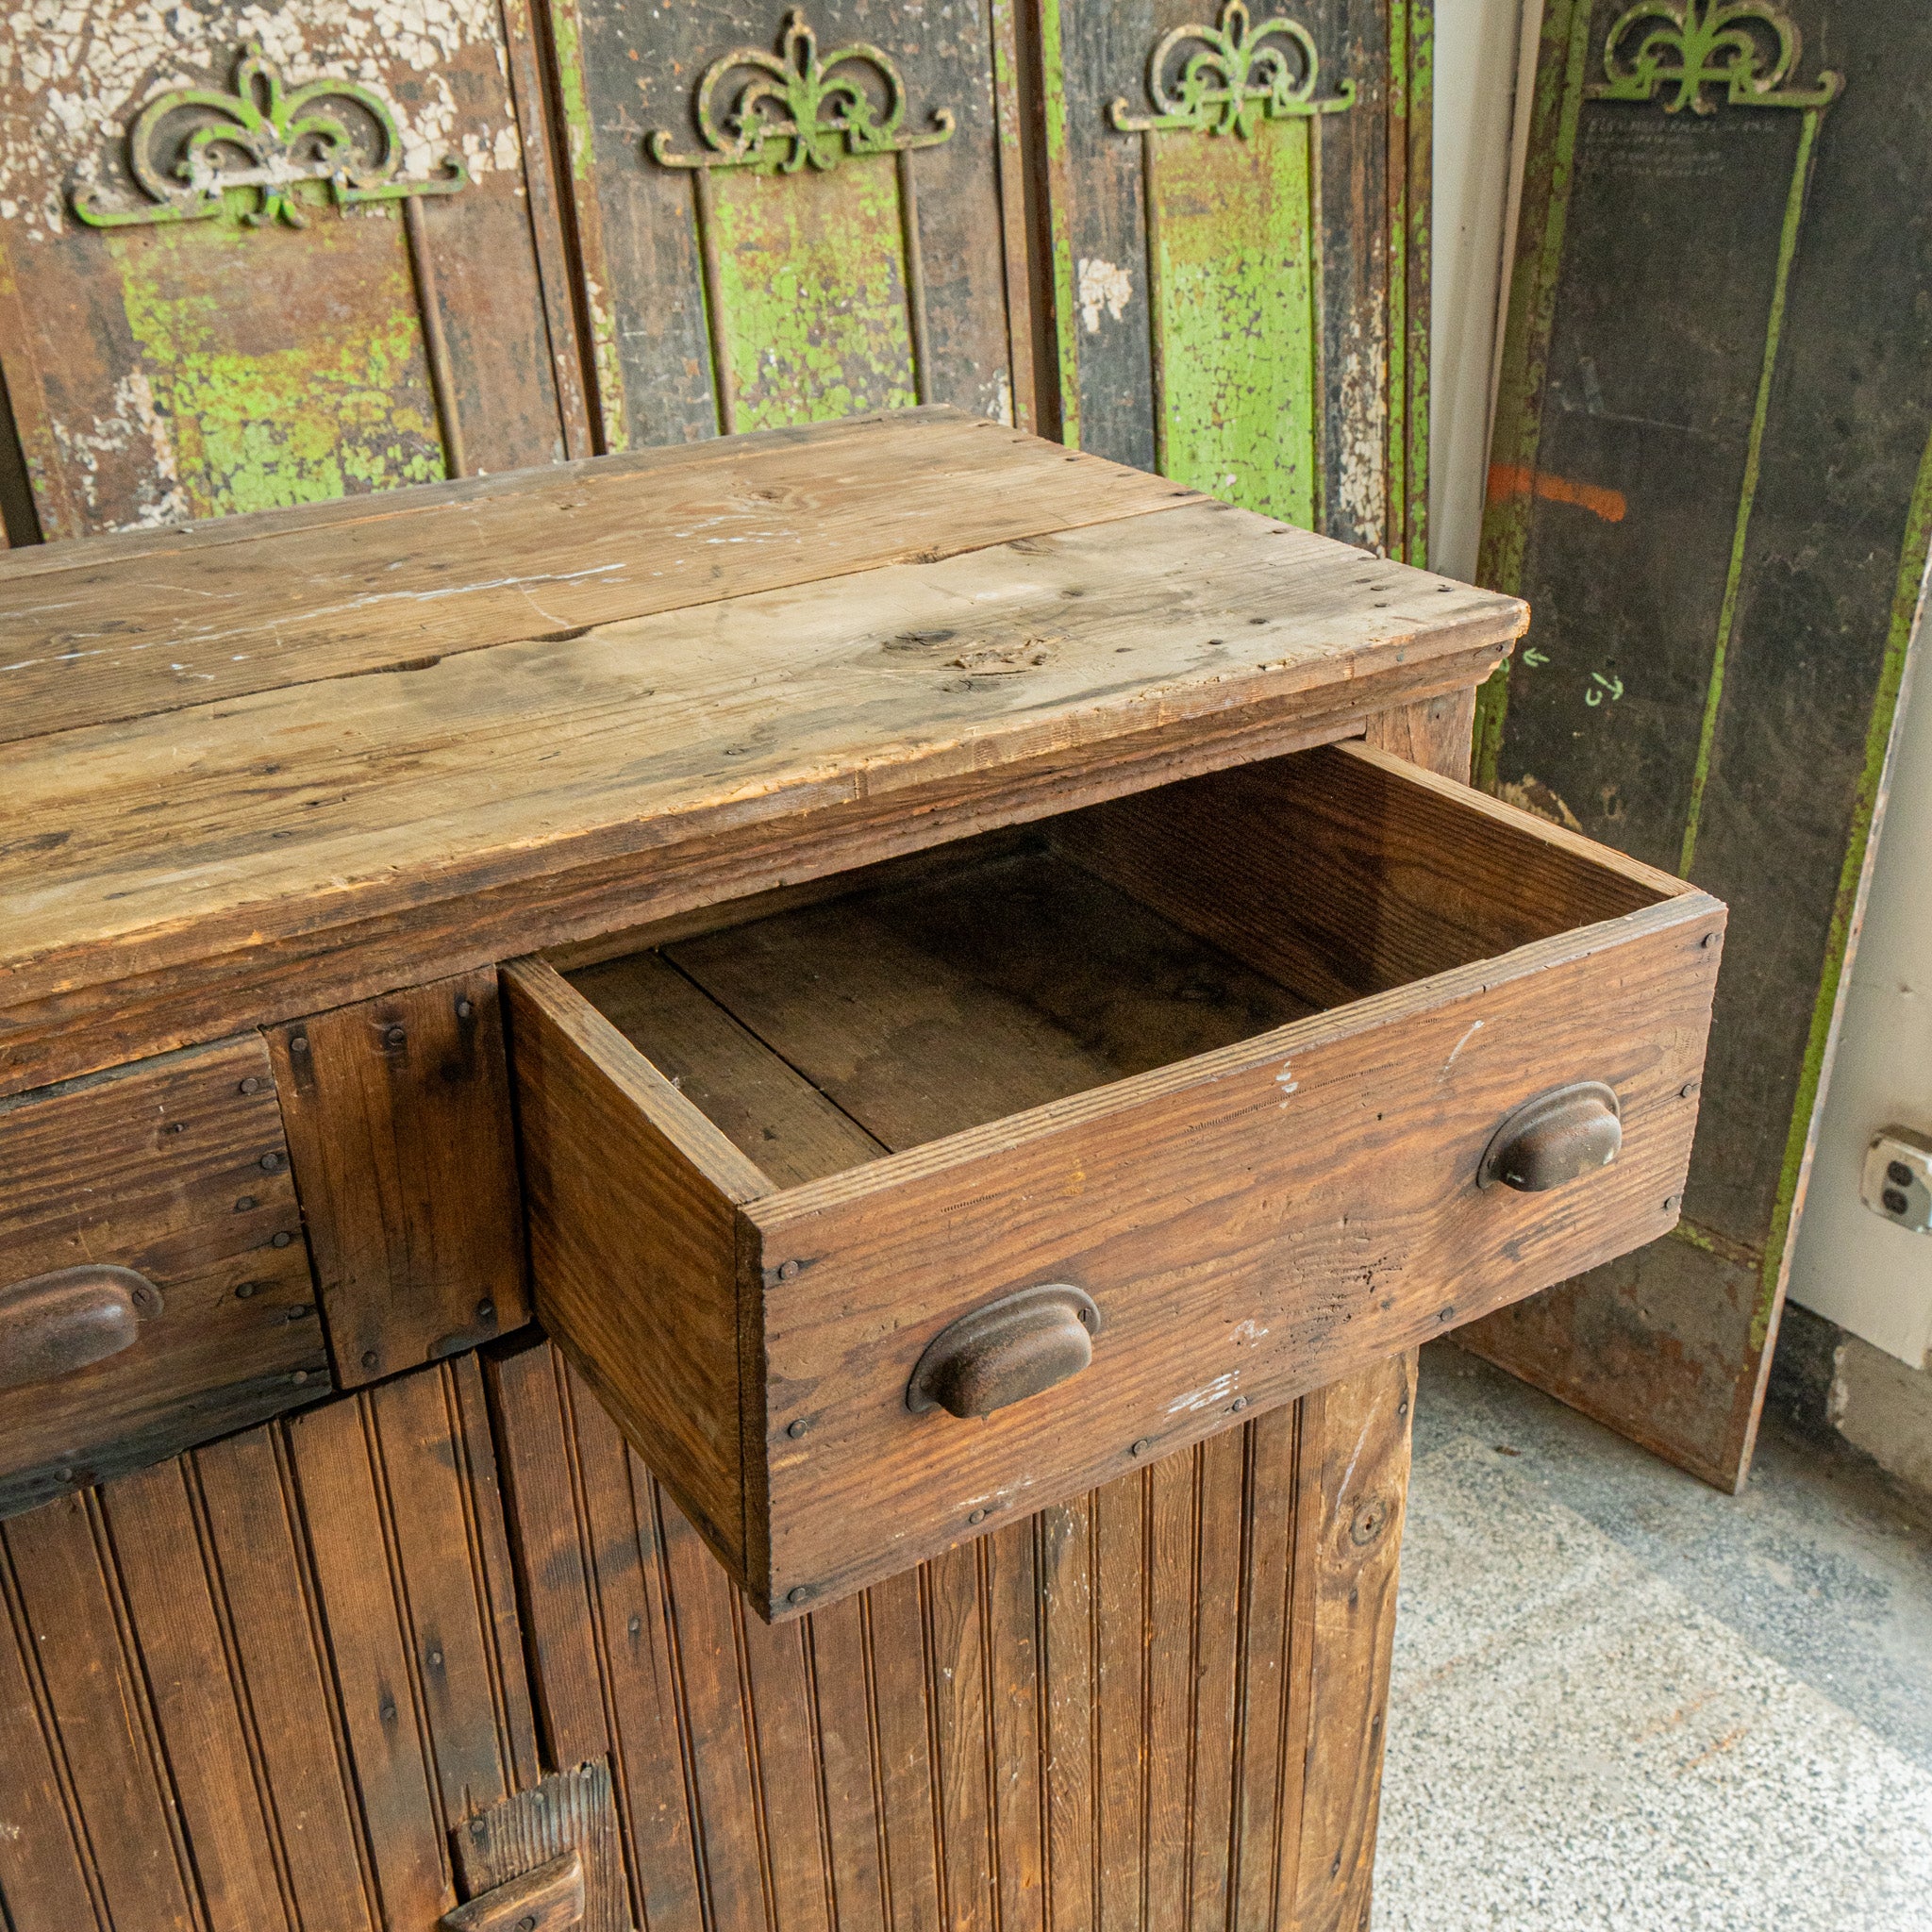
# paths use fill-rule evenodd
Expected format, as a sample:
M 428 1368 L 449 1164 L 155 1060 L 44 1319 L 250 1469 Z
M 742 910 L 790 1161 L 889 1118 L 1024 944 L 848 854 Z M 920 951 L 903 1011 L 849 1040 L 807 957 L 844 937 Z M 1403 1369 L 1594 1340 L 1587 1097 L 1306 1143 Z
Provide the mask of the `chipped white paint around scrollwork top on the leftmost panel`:
M 259 41 L 292 87 L 361 81 L 394 106 L 404 168 L 431 174 L 460 153 L 475 176 L 516 170 L 502 15 L 495 0 L 311 0 L 199 12 L 155 0 L 29 0 L 0 14 L 0 216 L 44 240 L 68 224 L 75 187 L 106 185 L 102 153 L 120 147 L 143 102 L 172 87 L 228 91 L 236 56 Z M 458 106 L 448 68 L 489 48 L 502 75 L 500 118 Z M 400 89 L 408 83 L 410 104 Z

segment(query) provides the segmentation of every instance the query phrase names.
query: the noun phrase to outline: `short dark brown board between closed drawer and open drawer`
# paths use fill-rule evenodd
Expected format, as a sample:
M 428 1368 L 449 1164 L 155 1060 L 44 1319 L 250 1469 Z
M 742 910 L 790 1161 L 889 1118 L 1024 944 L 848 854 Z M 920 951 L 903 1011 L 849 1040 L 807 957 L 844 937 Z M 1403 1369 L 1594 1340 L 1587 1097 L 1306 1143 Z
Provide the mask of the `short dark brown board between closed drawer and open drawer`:
M 497 976 L 311 1014 L 269 1047 L 338 1387 L 527 1321 Z

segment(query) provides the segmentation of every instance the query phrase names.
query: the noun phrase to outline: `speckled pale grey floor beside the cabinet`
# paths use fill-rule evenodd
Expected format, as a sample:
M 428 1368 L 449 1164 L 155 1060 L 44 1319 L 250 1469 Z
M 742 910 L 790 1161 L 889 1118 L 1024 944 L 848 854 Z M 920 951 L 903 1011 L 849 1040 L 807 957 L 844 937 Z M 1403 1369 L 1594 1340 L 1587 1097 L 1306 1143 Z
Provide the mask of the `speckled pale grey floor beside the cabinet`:
M 1932 1530 L 1422 1356 L 1376 1932 L 1928 1932 Z

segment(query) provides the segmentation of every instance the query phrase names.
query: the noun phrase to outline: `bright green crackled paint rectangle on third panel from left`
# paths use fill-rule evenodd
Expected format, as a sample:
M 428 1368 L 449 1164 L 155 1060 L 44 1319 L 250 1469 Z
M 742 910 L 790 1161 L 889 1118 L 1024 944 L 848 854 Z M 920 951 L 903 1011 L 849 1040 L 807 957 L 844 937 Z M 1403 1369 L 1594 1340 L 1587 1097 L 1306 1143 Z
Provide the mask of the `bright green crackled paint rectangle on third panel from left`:
M 1308 120 L 1155 133 L 1150 182 L 1165 473 L 1314 524 L 1320 466 Z

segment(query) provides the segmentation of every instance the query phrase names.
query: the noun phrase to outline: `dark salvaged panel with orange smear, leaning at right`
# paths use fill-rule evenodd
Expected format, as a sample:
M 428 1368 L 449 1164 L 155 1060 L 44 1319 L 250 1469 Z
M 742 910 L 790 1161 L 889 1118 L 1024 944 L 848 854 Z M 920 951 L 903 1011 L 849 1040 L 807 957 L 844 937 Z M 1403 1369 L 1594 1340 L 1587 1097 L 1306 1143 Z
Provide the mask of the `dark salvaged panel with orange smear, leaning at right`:
M 1932 529 L 1932 151 L 1905 0 L 1551 0 L 1482 582 L 1478 775 L 1731 904 L 1673 1238 L 1470 1331 L 1723 1488 L 1785 1258 Z

